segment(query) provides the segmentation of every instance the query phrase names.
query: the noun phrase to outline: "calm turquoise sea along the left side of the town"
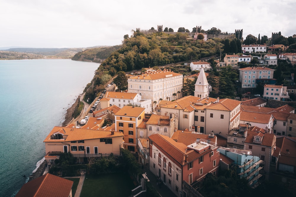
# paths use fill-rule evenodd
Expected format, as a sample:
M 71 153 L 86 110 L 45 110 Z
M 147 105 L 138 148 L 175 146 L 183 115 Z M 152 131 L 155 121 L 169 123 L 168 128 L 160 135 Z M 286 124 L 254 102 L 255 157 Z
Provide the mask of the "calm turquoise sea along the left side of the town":
M 28 181 L 45 155 L 43 140 L 61 126 L 98 67 L 57 59 L 0 61 L 0 196 L 15 196 Z

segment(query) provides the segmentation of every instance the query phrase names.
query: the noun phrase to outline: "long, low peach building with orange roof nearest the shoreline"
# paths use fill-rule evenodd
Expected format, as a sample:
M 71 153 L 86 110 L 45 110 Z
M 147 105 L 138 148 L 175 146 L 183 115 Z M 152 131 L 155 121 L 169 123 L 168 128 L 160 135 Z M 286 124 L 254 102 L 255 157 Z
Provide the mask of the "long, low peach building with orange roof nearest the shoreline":
M 89 158 L 101 157 L 102 154 L 120 154 L 123 144 L 123 133 L 73 127 L 55 126 L 43 141 L 45 159 L 54 162 L 62 152 L 70 152 L 77 162 L 87 162 Z

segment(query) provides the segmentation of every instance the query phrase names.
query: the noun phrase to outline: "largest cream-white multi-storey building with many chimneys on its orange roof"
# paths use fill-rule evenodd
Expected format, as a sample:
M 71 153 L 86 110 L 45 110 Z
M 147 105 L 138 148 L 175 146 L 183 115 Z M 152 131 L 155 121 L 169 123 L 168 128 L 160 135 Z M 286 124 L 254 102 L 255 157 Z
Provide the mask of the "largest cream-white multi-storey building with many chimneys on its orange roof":
M 158 103 L 160 99 L 178 99 L 182 87 L 183 75 L 168 69 L 148 70 L 141 75 L 128 78 L 128 92 L 138 93 L 142 99 L 151 99 L 152 104 L 154 101 Z

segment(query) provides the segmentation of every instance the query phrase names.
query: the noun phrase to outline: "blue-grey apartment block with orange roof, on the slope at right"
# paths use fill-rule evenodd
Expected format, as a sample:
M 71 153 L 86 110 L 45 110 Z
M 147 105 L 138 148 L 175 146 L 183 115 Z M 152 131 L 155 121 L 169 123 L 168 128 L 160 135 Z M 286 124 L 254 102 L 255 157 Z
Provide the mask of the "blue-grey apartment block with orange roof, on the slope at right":
M 246 67 L 239 69 L 239 82 L 242 88 L 255 88 L 259 81 L 274 84 L 274 69 L 263 67 Z

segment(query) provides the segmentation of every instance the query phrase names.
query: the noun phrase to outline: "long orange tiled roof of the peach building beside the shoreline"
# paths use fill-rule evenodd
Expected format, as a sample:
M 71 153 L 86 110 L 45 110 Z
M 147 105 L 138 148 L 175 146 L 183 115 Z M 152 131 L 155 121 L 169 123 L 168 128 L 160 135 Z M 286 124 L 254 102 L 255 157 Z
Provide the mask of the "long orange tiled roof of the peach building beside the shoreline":
M 54 133 L 61 133 L 67 136 L 66 139 L 51 139 Z M 83 128 L 68 128 L 55 126 L 52 131 L 48 134 L 43 142 L 68 142 L 77 140 L 89 140 L 89 139 L 100 139 L 100 138 L 112 138 L 123 136 L 122 132 L 114 131 L 111 135 L 110 131 L 100 131 Z

